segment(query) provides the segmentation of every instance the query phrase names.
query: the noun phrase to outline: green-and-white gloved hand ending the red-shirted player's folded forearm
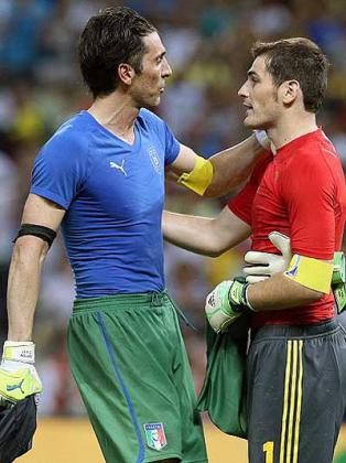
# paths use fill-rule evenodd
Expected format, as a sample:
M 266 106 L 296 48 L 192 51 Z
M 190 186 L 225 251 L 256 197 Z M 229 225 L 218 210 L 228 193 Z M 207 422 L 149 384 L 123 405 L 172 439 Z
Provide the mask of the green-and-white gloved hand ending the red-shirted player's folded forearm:
M 247 310 L 253 310 L 246 297 L 249 283 L 239 280 L 223 281 L 206 298 L 206 317 L 216 333 L 227 331 Z

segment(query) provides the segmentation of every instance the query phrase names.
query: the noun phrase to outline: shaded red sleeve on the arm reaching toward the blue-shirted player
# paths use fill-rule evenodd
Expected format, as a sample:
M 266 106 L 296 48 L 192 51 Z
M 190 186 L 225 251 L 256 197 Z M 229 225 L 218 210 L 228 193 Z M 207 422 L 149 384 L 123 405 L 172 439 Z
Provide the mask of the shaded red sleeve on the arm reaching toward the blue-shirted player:
M 252 225 L 252 203 L 260 181 L 266 172 L 269 162 L 272 160 L 270 152 L 266 153 L 256 164 L 253 172 L 242 190 L 228 202 L 229 209 L 248 225 Z

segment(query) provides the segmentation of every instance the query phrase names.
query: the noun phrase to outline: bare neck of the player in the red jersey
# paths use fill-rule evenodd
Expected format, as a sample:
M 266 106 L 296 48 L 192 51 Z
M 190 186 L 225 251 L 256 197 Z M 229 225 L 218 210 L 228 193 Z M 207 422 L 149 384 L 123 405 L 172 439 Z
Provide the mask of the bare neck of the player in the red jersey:
M 268 129 L 268 138 L 277 149 L 292 140 L 311 133 L 317 129 L 316 116 L 313 112 L 300 114 L 298 117 L 284 117 L 279 120 L 275 127 Z

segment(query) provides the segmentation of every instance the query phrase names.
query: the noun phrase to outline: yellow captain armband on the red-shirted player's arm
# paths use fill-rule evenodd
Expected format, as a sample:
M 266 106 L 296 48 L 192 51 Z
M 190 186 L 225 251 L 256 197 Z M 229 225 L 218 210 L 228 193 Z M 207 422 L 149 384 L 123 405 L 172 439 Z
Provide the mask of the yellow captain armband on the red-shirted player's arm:
M 315 291 L 329 294 L 334 265 L 295 254 L 285 277 Z

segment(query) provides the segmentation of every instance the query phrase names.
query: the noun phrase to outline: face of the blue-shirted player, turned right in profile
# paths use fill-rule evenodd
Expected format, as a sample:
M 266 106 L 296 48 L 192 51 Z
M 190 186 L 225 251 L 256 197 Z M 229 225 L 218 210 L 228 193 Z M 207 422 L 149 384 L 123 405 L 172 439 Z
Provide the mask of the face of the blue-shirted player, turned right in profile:
M 159 105 L 165 79 L 171 76 L 172 69 L 159 34 L 152 32 L 142 40 L 147 47 L 142 58 L 142 72 L 134 76 L 130 93 L 139 107 L 152 107 Z

